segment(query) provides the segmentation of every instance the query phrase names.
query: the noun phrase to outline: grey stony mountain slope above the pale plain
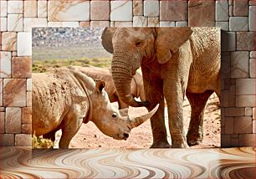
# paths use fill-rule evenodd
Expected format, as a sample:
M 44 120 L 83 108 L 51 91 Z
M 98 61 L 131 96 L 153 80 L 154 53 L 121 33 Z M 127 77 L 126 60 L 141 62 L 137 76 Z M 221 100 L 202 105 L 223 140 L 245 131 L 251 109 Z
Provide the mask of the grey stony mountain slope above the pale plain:
M 33 47 L 101 48 L 104 28 L 33 28 Z

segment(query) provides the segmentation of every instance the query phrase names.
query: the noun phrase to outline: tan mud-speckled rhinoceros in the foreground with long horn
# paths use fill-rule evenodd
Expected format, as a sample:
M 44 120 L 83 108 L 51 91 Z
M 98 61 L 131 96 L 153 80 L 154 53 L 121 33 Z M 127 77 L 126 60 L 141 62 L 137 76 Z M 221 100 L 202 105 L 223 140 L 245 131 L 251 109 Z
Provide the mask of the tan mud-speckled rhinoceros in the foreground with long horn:
M 69 142 L 83 123 L 92 121 L 106 135 L 126 140 L 131 129 L 151 118 L 158 109 L 131 118 L 127 109 L 117 110 L 110 104 L 104 90 L 105 82 L 95 82 L 73 69 L 52 69 L 32 74 L 32 130 L 36 136 L 55 140 L 62 130 L 59 148 L 69 148 Z

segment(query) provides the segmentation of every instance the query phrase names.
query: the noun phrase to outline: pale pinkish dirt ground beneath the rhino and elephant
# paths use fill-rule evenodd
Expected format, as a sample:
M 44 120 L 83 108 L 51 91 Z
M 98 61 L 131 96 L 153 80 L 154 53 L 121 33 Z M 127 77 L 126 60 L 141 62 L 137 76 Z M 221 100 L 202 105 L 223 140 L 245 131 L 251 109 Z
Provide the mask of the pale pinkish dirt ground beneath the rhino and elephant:
M 115 104 L 116 105 L 116 104 Z M 186 99 L 183 103 L 184 107 L 184 130 L 187 134 L 187 129 L 190 120 L 190 105 Z M 132 108 L 129 109 L 131 116 L 146 114 L 146 108 Z M 167 123 L 167 112 L 166 123 Z M 204 138 L 202 144 L 192 146 L 192 148 L 211 148 L 220 147 L 220 108 L 218 97 L 214 94 L 207 102 L 207 109 L 204 115 Z M 167 130 L 168 131 L 168 130 Z M 58 133 L 56 136 L 60 136 Z M 168 132 L 168 140 L 171 143 L 171 137 Z M 79 132 L 74 136 L 70 142 L 69 148 L 149 148 L 152 144 L 151 136 L 151 123 L 147 120 L 144 124 L 140 125 L 136 129 L 131 130 L 131 135 L 126 141 L 116 141 L 109 136 L 105 136 L 95 126 L 94 123 L 89 122 L 83 124 L 79 129 Z M 54 146 L 58 146 L 58 141 Z

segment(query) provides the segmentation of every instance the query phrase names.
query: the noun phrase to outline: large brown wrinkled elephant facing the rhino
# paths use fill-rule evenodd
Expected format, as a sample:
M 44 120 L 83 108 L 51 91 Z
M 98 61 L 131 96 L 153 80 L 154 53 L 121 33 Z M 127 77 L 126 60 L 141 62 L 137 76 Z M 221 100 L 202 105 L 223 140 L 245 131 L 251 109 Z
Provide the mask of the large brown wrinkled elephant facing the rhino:
M 151 147 L 171 147 L 164 121 L 165 100 L 172 148 L 202 142 L 208 97 L 215 92 L 220 99 L 220 29 L 105 28 L 101 39 L 104 49 L 113 54 L 112 76 L 120 99 L 148 110 L 160 104 L 151 117 Z M 146 101 L 137 101 L 131 95 L 131 79 L 139 67 Z M 185 95 L 192 107 L 187 136 L 183 129 Z

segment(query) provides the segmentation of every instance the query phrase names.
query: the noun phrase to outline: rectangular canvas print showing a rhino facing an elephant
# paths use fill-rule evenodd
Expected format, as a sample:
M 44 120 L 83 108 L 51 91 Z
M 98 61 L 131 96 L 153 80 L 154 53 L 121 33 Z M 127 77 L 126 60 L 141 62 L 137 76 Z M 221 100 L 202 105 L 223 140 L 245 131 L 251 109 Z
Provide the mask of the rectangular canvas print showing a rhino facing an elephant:
M 33 148 L 220 146 L 219 28 L 33 28 Z

